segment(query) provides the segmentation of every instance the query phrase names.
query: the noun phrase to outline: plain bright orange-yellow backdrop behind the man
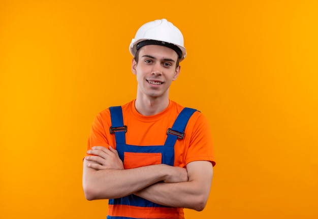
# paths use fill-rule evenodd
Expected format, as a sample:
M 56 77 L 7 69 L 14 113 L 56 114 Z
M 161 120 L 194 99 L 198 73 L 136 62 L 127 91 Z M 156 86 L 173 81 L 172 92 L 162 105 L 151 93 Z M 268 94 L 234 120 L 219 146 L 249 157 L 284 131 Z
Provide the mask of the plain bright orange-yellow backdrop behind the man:
M 318 217 L 317 1 L 0 2 L 0 218 L 105 218 L 82 157 L 97 113 L 135 98 L 128 47 L 181 29 L 171 99 L 210 121 L 217 164 L 187 218 Z

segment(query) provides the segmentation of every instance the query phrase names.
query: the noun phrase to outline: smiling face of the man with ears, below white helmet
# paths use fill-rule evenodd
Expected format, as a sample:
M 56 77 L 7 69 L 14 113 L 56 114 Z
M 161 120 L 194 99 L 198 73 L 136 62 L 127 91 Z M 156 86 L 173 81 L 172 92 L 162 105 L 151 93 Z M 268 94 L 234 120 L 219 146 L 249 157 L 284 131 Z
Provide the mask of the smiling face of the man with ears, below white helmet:
M 138 95 L 150 98 L 168 97 L 171 82 L 176 80 L 177 53 L 165 46 L 147 45 L 140 48 L 138 63 L 133 59 L 132 71 L 137 76 Z

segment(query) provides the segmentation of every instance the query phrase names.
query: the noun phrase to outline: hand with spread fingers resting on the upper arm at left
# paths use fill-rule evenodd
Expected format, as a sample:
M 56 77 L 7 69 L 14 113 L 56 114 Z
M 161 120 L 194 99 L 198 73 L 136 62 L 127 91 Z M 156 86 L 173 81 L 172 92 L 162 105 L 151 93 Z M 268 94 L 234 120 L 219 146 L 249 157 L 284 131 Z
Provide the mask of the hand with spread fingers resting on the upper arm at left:
M 123 163 L 118 156 L 118 152 L 111 146 L 94 146 L 87 154 L 96 156 L 86 156 L 87 166 L 96 170 L 103 169 L 124 169 Z

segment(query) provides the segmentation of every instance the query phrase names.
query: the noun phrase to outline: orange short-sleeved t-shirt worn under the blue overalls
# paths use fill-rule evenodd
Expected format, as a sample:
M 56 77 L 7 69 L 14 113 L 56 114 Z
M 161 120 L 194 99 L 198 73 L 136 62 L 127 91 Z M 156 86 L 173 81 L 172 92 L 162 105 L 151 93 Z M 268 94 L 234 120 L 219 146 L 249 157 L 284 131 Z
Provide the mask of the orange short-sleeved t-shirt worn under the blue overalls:
M 179 113 L 184 108 L 174 101 L 161 113 L 143 116 L 136 111 L 135 100 L 121 106 L 123 124 L 127 126 L 126 144 L 131 145 L 164 145 L 167 130 L 171 128 Z M 115 135 L 110 134 L 111 118 L 109 108 L 97 115 L 93 121 L 87 150 L 93 146 L 111 145 L 116 149 Z M 210 161 L 215 165 L 211 131 L 206 117 L 195 112 L 189 119 L 184 131 L 184 138 L 175 143 L 174 166 L 185 167 L 192 161 Z

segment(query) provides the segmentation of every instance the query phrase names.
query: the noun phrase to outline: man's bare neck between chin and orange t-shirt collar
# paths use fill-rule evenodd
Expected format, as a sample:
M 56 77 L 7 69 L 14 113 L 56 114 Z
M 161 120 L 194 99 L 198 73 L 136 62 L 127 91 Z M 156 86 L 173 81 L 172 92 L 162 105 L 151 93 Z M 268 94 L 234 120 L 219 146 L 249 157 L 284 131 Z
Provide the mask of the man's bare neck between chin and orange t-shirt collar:
M 144 116 L 152 116 L 165 110 L 169 105 L 169 98 L 147 98 L 137 95 L 135 107 L 138 113 Z

